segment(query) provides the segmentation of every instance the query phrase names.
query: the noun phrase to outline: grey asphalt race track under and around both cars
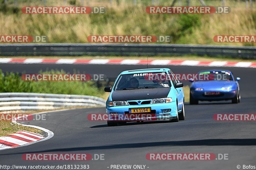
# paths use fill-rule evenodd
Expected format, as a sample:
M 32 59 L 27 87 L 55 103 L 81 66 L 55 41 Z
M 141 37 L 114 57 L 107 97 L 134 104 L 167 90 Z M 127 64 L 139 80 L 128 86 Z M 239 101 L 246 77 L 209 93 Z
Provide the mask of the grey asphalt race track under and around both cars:
M 64 69 L 80 73 L 106 74 L 116 77 L 121 71 L 145 68 L 138 65 L 47 65 L 0 64 L 3 72 L 37 73 L 46 68 Z M 149 66 L 166 67 L 166 66 Z M 197 73 L 213 67 L 168 66 L 174 73 Z M 112 164 L 146 165 L 149 170 L 225 169 L 237 165 L 256 165 L 256 131 L 253 122 L 217 122 L 216 113 L 255 113 L 255 68 L 216 67 L 228 69 L 241 77 L 241 103 L 231 101 L 201 102 L 185 105 L 186 119 L 177 123 L 128 123 L 108 127 L 106 122 L 88 121 L 89 113 L 105 113 L 105 108 L 76 109 L 51 112 L 46 121 L 25 122 L 54 132 L 46 141 L 33 145 L 0 151 L 1 164 L 10 165 L 75 165 L 88 164 L 90 169 L 110 169 Z M 184 82 L 185 85 L 190 84 Z M 219 153 L 228 154 L 228 160 L 151 161 L 147 153 Z M 90 153 L 105 154 L 105 160 L 90 161 L 24 161 L 23 153 Z M 109 168 L 108 168 L 109 167 Z

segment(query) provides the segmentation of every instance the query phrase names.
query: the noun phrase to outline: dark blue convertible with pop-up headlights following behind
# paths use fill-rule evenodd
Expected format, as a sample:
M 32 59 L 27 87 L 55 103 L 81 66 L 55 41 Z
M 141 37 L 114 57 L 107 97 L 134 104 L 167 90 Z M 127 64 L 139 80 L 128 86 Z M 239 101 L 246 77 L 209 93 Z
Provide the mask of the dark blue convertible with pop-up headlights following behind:
M 240 102 L 240 88 L 238 81 L 227 70 L 205 70 L 198 72 L 204 75 L 204 80 L 193 80 L 190 86 L 190 104 L 198 104 L 198 101 L 232 100 L 232 103 Z M 207 76 L 206 76 L 207 75 Z

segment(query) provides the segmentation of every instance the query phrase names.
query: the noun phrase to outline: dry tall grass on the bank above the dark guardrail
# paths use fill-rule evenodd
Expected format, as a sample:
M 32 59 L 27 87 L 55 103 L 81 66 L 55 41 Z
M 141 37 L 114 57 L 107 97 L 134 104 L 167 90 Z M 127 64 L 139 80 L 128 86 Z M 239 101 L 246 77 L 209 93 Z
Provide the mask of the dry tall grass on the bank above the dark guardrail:
M 40 5 L 41 1 L 33 1 Z M 39 4 L 37 4 L 37 3 Z M 47 0 L 48 6 L 70 6 L 64 1 Z M 76 5 L 81 5 L 77 0 Z M 229 14 L 148 14 L 145 8 L 150 1 L 108 0 L 87 1 L 83 5 L 105 6 L 105 14 L 17 14 L 0 12 L 0 35 L 46 35 L 50 43 L 85 43 L 89 35 L 171 35 L 171 43 L 218 44 L 215 35 L 255 35 L 256 10 L 245 8 L 245 2 L 226 0 Z M 145 3 L 147 2 L 147 3 Z M 181 1 L 186 5 L 186 1 Z M 159 1 L 159 5 L 170 5 Z M 220 6 L 221 1 L 206 1 L 208 6 Z M 24 2 L 19 4 L 28 6 Z M 179 4 L 176 4 L 179 5 Z M 200 5 L 191 0 L 191 6 Z M 30 6 L 30 5 L 29 5 Z M 221 43 L 221 45 L 255 46 L 256 43 Z

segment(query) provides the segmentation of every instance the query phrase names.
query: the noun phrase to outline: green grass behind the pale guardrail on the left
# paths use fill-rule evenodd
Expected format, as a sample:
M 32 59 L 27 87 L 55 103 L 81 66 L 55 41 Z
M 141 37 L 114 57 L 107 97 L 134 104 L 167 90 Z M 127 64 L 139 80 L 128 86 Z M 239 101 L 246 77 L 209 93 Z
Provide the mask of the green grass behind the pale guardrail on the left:
M 65 74 L 63 70 L 50 70 L 40 74 Z M 18 73 L 3 74 L 0 70 L 0 93 L 30 92 L 68 95 L 90 95 L 100 97 L 103 89 L 93 81 L 23 81 Z

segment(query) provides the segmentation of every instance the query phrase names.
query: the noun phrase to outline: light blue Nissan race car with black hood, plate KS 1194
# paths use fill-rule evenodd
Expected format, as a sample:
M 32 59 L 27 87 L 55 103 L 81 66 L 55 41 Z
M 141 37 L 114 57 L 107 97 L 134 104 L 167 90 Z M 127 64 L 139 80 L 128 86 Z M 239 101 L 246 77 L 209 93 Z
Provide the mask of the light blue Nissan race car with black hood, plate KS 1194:
M 104 89 L 110 92 L 106 103 L 108 126 L 132 121 L 184 120 L 182 87 L 183 83 L 169 68 L 123 71 L 113 88 Z

